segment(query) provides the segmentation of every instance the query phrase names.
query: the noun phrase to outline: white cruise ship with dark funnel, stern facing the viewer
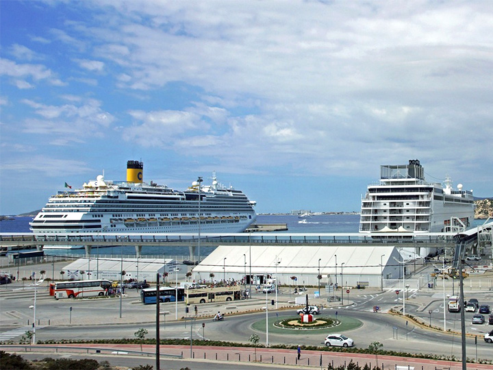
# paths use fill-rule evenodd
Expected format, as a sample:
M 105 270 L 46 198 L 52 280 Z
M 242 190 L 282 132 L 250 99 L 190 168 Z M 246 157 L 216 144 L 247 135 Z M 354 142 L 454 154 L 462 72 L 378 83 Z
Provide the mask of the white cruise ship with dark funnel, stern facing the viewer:
M 461 232 L 474 220 L 472 190 L 425 180 L 419 160 L 380 167 L 380 182 L 362 197 L 359 232 Z

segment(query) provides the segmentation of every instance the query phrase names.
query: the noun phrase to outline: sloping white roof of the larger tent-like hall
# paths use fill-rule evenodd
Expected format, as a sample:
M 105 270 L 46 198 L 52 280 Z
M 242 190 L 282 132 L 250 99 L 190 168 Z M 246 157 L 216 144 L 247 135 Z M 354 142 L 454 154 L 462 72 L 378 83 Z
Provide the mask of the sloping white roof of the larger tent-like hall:
M 382 255 L 385 255 L 382 257 Z M 220 245 L 201 264 L 194 267 L 194 273 L 244 273 L 245 263 L 247 273 L 274 273 L 276 258 L 277 273 L 306 273 L 318 274 L 318 259 L 320 258 L 320 274 L 336 273 L 336 256 L 338 273 L 344 263 L 344 273 L 361 275 L 379 275 L 381 262 L 383 266 L 391 256 L 399 256 L 393 245 L 353 247 L 327 245 L 298 245 L 276 246 L 269 245 Z

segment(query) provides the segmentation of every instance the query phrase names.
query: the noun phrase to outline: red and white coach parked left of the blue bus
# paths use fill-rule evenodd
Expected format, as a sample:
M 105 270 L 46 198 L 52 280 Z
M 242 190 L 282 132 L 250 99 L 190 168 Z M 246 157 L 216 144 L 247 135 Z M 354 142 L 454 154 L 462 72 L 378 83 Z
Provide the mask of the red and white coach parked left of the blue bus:
M 110 280 L 74 280 L 68 282 L 53 282 L 49 284 L 49 295 L 56 299 L 75 297 L 94 297 L 105 295 L 111 288 Z

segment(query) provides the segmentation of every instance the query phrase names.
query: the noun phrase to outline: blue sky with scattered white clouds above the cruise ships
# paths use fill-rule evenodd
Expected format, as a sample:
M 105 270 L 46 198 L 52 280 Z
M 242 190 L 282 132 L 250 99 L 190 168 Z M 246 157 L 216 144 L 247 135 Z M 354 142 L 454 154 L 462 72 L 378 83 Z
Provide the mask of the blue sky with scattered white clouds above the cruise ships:
M 493 195 L 490 1 L 0 1 L 0 213 L 212 171 L 257 212 L 359 210 L 381 164 Z

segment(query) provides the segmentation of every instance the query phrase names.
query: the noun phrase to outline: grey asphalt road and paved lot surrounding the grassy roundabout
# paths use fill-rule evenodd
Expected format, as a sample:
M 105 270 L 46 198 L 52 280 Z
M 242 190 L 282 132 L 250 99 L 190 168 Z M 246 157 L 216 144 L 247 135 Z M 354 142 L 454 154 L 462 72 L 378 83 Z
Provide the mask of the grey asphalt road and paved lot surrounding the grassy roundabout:
M 29 306 L 33 303 L 33 291 L 25 290 L 18 291 L 14 295 L 2 295 L 2 311 L 0 316 L 12 314 L 18 317 L 17 325 L 2 325 L 1 331 L 10 330 L 19 325 L 26 325 L 27 320 L 32 320 L 33 312 Z M 262 295 L 259 295 L 262 297 Z M 480 298 L 480 302 L 487 302 L 488 294 Z M 280 299 L 288 299 L 289 297 L 279 296 Z M 383 349 L 408 351 L 410 353 L 427 353 L 427 354 L 446 354 L 461 356 L 461 338 L 459 334 L 445 334 L 443 332 L 426 330 L 418 325 L 414 325 L 412 321 L 403 320 L 401 317 L 395 317 L 391 314 L 382 312 L 372 312 L 372 307 L 375 305 L 381 308 L 394 307 L 399 304 L 396 301 L 394 293 L 382 293 L 373 295 L 356 295 L 352 298 L 353 304 L 347 307 L 340 308 L 325 308 L 320 316 L 335 317 L 335 312 L 338 311 L 338 319 L 351 317 L 362 321 L 362 326 L 344 332 L 347 336 L 354 339 L 356 347 L 366 348 L 370 343 L 379 341 L 383 343 Z M 422 300 L 422 297 L 421 297 Z M 412 298 L 406 304 L 406 312 L 429 318 L 428 310 L 432 311 L 431 320 L 443 321 L 443 302 L 440 299 L 433 299 L 430 295 L 429 304 L 425 310 L 417 312 L 418 304 L 414 304 Z M 149 331 L 148 338 L 155 336 L 155 323 L 151 320 L 141 318 L 152 317 L 155 312 L 155 306 L 143 306 L 138 301 L 138 292 L 130 291 L 129 297 L 122 301 L 122 312 L 124 319 L 134 321 L 132 323 L 120 323 L 118 319 L 120 301 L 119 299 L 88 299 L 88 300 L 70 300 L 60 299 L 55 300 L 53 297 L 47 296 L 46 291 L 38 291 L 37 301 L 37 318 L 40 319 L 40 325 L 36 330 L 37 341 L 47 341 L 49 339 L 101 339 L 101 338 L 134 338 L 134 333 L 139 328 L 144 328 Z M 210 307 L 212 306 L 212 307 Z M 70 311 L 70 308 L 73 308 Z M 200 306 L 199 312 L 202 310 L 210 310 L 216 312 L 218 305 Z M 173 322 L 169 319 L 175 318 L 175 304 L 162 304 L 161 310 L 168 311 L 168 321 L 162 320 L 160 329 L 161 338 L 190 338 L 190 323 L 185 325 L 184 322 Z M 178 305 L 179 317 L 184 315 L 184 304 Z M 446 312 L 447 325 L 450 329 L 460 328 L 459 314 L 450 314 Z M 265 320 L 265 312 L 257 312 L 252 314 L 241 314 L 237 316 L 229 316 L 223 322 L 212 322 L 211 319 L 198 320 L 195 327 L 192 328 L 192 336 L 194 339 L 205 338 L 208 340 L 220 340 L 231 342 L 247 343 L 253 332 L 260 336 L 260 343 L 266 343 L 265 330 L 257 330 L 253 328 L 253 323 Z M 269 321 L 275 321 L 277 317 L 296 316 L 294 310 L 281 310 L 279 312 L 269 312 Z M 470 358 L 486 358 L 493 360 L 493 347 L 489 343 L 483 341 L 483 333 L 490 330 L 488 325 L 472 325 L 470 324 L 472 313 L 466 312 L 466 322 L 469 332 L 477 332 L 479 335 L 477 346 L 474 338 L 467 338 L 467 356 Z M 108 319 L 101 322 L 101 318 Z M 97 318 L 97 324 L 91 322 L 91 318 Z M 55 321 L 63 319 L 62 325 L 55 324 Z M 48 321 L 50 320 L 50 325 Z M 71 320 L 71 323 L 69 321 Z M 96 320 L 96 319 L 94 319 Z M 2 321 L 3 322 L 3 321 Z M 32 322 L 32 321 L 30 321 Z M 205 323 L 205 328 L 201 327 L 201 323 Z M 270 330 L 268 341 L 273 344 L 291 344 L 291 345 L 322 345 L 323 339 L 327 335 L 324 330 L 316 332 L 292 332 L 278 333 L 275 330 Z M 18 338 L 17 338 L 18 339 Z

